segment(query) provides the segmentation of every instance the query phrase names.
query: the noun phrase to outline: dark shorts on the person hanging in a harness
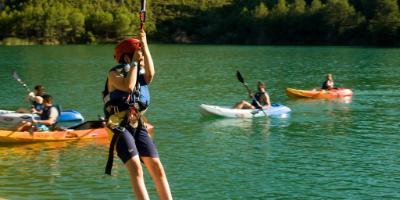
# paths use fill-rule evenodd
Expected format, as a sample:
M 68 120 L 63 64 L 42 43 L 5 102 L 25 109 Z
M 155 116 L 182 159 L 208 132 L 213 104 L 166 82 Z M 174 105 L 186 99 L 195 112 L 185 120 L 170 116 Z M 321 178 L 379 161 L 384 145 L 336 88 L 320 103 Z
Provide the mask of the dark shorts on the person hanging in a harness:
M 113 130 L 114 132 L 118 131 L 120 134 L 116 149 L 117 155 L 123 163 L 126 163 L 126 161 L 136 155 L 140 157 L 158 158 L 156 145 L 148 134 L 146 127 L 139 127 L 138 130 L 130 126 L 123 130 L 119 128 Z

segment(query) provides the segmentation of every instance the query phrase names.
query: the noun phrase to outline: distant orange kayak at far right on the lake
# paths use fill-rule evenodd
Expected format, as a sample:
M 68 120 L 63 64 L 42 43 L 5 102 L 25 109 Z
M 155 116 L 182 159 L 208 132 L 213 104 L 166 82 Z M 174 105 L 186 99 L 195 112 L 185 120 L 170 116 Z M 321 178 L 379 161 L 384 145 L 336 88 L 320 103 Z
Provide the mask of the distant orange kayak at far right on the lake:
M 336 88 L 331 90 L 297 90 L 286 88 L 286 94 L 293 98 L 336 99 L 351 97 L 353 92 L 347 88 Z

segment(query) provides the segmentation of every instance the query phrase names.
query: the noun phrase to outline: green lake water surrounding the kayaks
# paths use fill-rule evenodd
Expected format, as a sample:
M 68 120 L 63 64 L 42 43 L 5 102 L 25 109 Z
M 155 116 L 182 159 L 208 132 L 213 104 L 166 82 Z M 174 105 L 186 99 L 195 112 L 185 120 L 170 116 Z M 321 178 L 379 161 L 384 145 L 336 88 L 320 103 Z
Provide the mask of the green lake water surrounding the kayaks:
M 175 199 L 399 199 L 400 49 L 151 45 L 156 77 L 147 117 Z M 87 120 L 102 115 L 113 46 L 0 46 L 0 109 L 28 106 L 17 70 Z M 204 118 L 202 103 L 233 105 L 267 84 L 288 118 Z M 351 100 L 290 100 L 327 73 Z M 108 141 L 0 146 L 0 199 L 131 199 Z M 152 199 L 157 199 L 146 173 Z

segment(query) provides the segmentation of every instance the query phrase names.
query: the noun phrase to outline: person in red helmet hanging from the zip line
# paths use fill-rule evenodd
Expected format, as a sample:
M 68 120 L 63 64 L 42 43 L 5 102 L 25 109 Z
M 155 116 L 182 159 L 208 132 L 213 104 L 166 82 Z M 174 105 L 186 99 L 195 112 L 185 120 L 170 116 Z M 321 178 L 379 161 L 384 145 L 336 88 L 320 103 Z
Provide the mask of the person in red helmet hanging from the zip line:
M 103 91 L 107 127 L 113 133 L 105 173 L 111 174 L 115 148 L 129 172 L 137 199 L 149 199 L 141 162 L 147 167 L 160 199 L 172 199 L 156 146 L 143 122 L 150 104 L 148 85 L 155 74 L 145 32 L 139 32 L 139 39 L 119 42 L 114 59 L 118 64 L 109 70 Z

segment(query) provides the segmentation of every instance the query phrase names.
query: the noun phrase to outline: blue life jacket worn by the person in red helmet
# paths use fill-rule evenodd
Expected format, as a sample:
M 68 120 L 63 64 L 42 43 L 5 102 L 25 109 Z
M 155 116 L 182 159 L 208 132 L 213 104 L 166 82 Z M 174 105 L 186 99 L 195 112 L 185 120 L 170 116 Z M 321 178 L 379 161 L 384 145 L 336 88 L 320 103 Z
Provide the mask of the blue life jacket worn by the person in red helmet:
M 119 64 L 109 70 L 115 71 L 126 77 L 128 75 L 127 70 L 124 70 L 126 64 Z M 108 79 L 106 80 L 104 91 L 103 91 L 103 102 L 104 102 L 104 114 L 106 118 L 115 112 L 121 112 L 129 109 L 130 106 L 135 103 L 138 105 L 138 110 L 145 110 L 150 104 L 150 92 L 148 84 L 144 79 L 144 69 L 139 67 L 137 74 L 137 82 L 135 89 L 131 92 L 125 92 L 121 90 L 108 91 Z

